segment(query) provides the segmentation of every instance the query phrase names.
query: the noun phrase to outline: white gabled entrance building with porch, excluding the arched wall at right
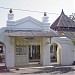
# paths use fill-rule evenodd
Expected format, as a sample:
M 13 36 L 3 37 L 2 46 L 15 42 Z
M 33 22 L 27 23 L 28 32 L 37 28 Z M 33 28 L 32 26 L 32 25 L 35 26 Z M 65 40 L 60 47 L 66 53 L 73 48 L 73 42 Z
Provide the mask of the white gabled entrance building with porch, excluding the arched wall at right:
M 48 16 L 40 22 L 30 16 L 14 21 L 14 14 L 8 14 L 7 26 L 1 28 L 0 41 L 5 47 L 5 65 L 29 65 L 37 61 L 42 65 L 50 65 L 50 39 L 58 34 L 50 29 Z M 47 62 L 46 62 L 47 61 Z

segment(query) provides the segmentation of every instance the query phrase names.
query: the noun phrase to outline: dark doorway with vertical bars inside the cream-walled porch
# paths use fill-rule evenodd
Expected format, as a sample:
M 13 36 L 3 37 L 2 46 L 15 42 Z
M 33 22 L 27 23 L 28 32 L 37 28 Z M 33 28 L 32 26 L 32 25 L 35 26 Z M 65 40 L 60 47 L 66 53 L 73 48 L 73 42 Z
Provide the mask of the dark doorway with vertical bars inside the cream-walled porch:
M 29 45 L 29 61 L 40 61 L 40 45 Z

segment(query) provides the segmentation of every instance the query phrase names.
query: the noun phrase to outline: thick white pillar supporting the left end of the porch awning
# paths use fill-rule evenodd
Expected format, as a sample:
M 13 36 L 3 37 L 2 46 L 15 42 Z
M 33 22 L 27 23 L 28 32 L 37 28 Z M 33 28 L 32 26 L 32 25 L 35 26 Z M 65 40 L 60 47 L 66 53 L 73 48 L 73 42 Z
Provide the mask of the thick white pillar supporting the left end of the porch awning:
M 6 36 L 5 64 L 7 68 L 14 67 L 14 39 Z

